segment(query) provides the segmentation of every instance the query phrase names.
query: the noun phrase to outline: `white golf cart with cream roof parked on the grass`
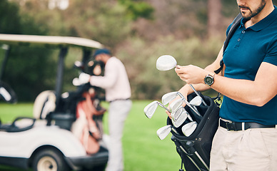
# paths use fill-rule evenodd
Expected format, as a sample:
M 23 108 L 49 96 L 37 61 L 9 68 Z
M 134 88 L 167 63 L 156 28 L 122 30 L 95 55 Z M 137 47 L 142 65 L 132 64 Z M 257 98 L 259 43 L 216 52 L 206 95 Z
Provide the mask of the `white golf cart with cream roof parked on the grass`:
M 36 171 L 104 170 L 109 157 L 104 138 L 97 140 L 95 145 L 98 146 L 93 147 L 96 151 L 89 153 L 72 130 L 82 93 L 91 86 L 75 80 L 76 90 L 61 93 L 68 49 L 72 46 L 82 48 L 82 60 L 75 68 L 84 72 L 91 51 L 102 48 L 101 43 L 76 37 L 0 34 L 0 46 L 6 50 L 0 73 L 0 100 L 7 103 L 16 102 L 16 93 L 2 81 L 4 68 L 10 47 L 22 44 L 60 48 L 56 88 L 37 96 L 34 118 L 19 117 L 11 124 L 1 124 L 0 120 L 0 165 Z M 94 120 L 101 123 L 105 110 L 100 106 L 97 89 L 94 93 L 94 107 L 102 114 L 95 116 Z M 96 125 L 101 129 L 101 124 Z

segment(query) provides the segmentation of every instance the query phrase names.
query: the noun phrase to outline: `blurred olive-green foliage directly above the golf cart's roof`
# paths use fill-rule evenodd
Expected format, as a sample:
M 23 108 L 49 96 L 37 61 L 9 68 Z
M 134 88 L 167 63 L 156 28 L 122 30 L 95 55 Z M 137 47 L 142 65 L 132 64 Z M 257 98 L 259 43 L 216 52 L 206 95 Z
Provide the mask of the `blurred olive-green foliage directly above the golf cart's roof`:
M 64 11 L 38 1 L 27 1 L 21 11 L 51 35 L 90 38 L 114 49 L 131 35 L 132 20 L 150 19 L 153 8 L 143 1 L 71 0 Z

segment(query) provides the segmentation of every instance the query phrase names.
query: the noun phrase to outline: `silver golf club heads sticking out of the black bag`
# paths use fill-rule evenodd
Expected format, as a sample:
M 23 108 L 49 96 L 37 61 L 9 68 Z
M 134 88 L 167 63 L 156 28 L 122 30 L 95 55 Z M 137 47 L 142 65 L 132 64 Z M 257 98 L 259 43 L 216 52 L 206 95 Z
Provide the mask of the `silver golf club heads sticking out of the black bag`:
M 174 100 L 177 96 L 180 96 L 181 98 Z M 183 107 L 183 103 L 186 103 L 186 105 L 188 105 L 188 107 L 191 108 L 193 113 L 196 113 L 198 117 L 202 118 L 202 115 L 198 113 L 198 110 L 196 108 L 196 106 L 199 106 L 201 105 L 201 103 L 203 103 L 202 98 L 196 96 L 190 102 L 188 102 L 188 100 L 186 100 L 186 98 L 184 98 L 181 93 L 171 92 L 163 95 L 161 100 L 162 103 L 158 102 L 157 100 L 153 101 L 152 103 L 149 103 L 143 110 L 147 118 L 152 118 L 158 105 L 166 109 L 169 113 L 171 113 L 171 122 L 173 123 L 173 126 L 166 125 L 158 129 L 158 138 L 163 140 L 171 132 L 171 130 L 173 130 L 176 134 L 179 135 L 179 133 L 176 131 L 176 128 L 179 128 L 181 125 L 183 125 L 183 123 L 185 123 L 186 120 L 188 120 L 188 123 L 183 125 L 181 130 L 183 135 L 186 135 L 187 137 L 190 136 L 194 132 L 194 130 L 196 130 L 198 123 L 194 121 L 191 115 L 188 113 L 188 111 L 186 111 L 186 109 Z M 168 105 L 168 108 L 166 108 L 165 105 L 170 103 L 172 100 L 174 101 L 170 105 Z

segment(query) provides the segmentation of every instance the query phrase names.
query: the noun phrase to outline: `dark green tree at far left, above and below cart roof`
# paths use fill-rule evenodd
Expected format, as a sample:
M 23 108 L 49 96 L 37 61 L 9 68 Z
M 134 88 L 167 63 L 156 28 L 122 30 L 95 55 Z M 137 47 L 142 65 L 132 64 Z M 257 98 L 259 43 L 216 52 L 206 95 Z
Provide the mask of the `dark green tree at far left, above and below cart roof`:
M 31 16 L 20 14 L 17 4 L 1 0 L 0 14 L 0 33 L 46 34 L 47 29 L 34 23 Z M 3 50 L 0 58 L 4 58 Z M 51 51 L 47 48 L 13 46 L 3 81 L 14 88 L 19 100 L 34 100 L 41 90 L 53 86 L 55 70 Z

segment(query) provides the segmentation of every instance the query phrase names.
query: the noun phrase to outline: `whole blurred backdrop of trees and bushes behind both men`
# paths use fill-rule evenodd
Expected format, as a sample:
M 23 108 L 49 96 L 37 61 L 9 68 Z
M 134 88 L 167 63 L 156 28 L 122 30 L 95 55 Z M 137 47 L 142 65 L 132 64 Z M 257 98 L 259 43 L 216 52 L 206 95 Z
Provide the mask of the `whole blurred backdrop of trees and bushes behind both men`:
M 99 41 L 124 62 L 132 98 L 159 99 L 184 83 L 173 70 L 156 70 L 158 56 L 170 54 L 180 65 L 205 67 L 216 58 L 238 12 L 236 1 L 230 0 L 1 0 L 0 33 Z M 34 100 L 41 90 L 54 87 L 55 53 L 36 51 L 11 51 L 5 80 L 19 89 L 21 100 Z M 67 70 L 76 54 L 70 53 Z M 65 84 L 70 87 L 71 81 Z

